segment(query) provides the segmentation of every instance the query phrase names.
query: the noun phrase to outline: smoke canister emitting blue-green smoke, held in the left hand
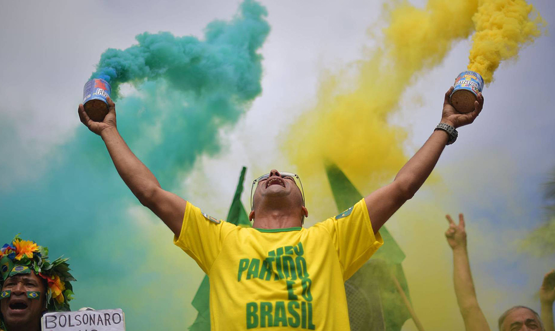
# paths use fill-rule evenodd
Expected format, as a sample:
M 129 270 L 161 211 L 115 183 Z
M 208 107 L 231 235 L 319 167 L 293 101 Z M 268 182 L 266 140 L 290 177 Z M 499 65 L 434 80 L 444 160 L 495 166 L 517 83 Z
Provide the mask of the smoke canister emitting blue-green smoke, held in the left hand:
M 94 78 L 85 83 L 85 87 L 83 87 L 83 107 L 93 121 L 104 121 L 104 117 L 108 114 L 106 97 L 110 96 L 110 92 L 112 92 L 112 87 L 104 79 Z

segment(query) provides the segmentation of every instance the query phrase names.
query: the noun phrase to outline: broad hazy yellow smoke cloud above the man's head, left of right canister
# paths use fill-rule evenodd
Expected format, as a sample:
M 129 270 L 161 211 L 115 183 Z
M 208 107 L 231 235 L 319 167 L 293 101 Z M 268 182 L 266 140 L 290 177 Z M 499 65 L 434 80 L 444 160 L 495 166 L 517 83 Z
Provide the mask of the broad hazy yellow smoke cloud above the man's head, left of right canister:
M 388 117 L 415 73 L 435 66 L 454 41 L 470 36 L 477 6 L 477 0 L 431 0 L 424 9 L 397 4 L 388 13 L 382 47 L 355 64 L 354 77 L 324 76 L 316 106 L 290 128 L 284 144 L 307 187 L 325 178 L 324 160 L 337 164 L 362 192 L 395 175 L 407 161 L 407 134 Z

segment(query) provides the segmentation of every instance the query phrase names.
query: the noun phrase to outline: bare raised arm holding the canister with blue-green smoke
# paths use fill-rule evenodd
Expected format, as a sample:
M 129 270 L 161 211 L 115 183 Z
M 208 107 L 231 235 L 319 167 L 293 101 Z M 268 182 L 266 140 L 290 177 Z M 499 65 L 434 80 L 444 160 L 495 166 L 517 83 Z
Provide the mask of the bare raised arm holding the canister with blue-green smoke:
M 162 187 L 154 174 L 133 154 L 122 136 L 115 120 L 115 104 L 108 98 L 109 112 L 102 122 L 94 122 L 79 104 L 79 118 L 90 131 L 102 137 L 120 177 L 135 197 L 152 210 L 173 233 L 179 236 L 186 201 Z

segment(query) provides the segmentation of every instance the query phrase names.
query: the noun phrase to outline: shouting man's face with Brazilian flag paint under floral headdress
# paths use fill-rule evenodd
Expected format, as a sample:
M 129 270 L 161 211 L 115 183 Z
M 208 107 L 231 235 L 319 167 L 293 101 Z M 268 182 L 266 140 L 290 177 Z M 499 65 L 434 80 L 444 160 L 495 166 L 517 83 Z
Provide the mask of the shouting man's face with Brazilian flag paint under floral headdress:
M 40 324 L 42 312 L 46 307 L 46 288 L 41 278 L 30 274 L 17 274 L 8 277 L 2 291 L 11 290 L 9 298 L 0 300 L 0 311 L 8 329 L 11 325 Z M 39 299 L 27 298 L 27 291 L 41 292 Z

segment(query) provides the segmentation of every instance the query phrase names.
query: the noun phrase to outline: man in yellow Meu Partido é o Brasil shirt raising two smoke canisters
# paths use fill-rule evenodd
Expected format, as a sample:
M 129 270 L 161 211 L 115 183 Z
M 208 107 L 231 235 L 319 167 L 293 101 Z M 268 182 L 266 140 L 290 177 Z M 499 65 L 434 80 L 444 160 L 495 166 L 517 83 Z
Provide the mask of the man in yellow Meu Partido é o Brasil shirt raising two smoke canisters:
M 79 117 L 102 137 L 118 173 L 139 201 L 175 234 L 174 243 L 210 278 L 213 330 L 349 330 L 344 282 L 383 244 L 378 230 L 421 187 L 455 128 L 482 110 L 459 114 L 445 94 L 441 123 L 386 185 L 336 217 L 302 228 L 308 216 L 298 176 L 270 173 L 255 180 L 253 228 L 217 220 L 160 187 L 119 135 L 115 105 L 103 122 Z

